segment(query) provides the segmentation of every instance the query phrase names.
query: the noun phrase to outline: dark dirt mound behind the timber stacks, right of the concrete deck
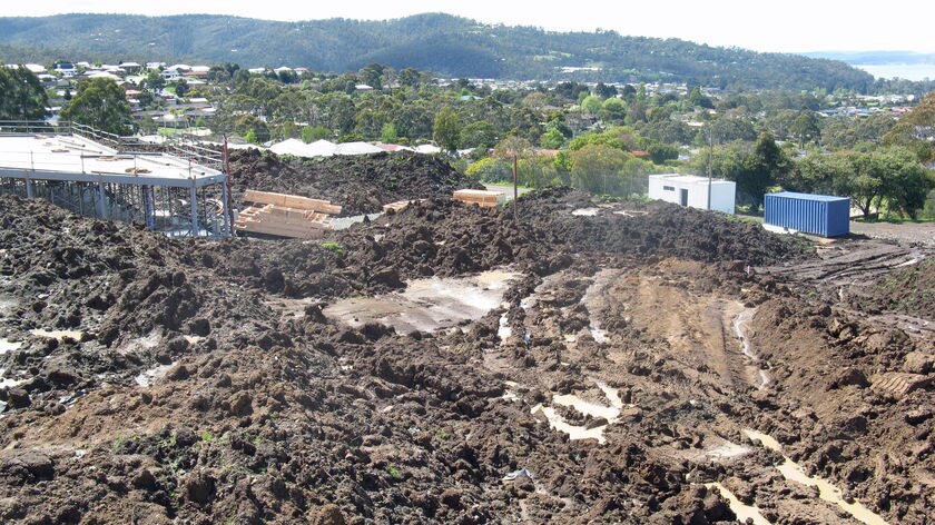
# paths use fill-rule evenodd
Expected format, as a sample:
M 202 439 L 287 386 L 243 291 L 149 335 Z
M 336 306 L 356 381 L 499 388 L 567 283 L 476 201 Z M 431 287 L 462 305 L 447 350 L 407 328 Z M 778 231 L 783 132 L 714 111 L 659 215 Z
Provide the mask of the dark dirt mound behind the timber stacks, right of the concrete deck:
M 374 214 L 398 200 L 450 198 L 452 191 L 482 187 L 430 155 L 386 152 L 316 158 L 279 157 L 258 150 L 230 155 L 232 189 L 240 201 L 247 189 L 331 200 L 343 216 Z

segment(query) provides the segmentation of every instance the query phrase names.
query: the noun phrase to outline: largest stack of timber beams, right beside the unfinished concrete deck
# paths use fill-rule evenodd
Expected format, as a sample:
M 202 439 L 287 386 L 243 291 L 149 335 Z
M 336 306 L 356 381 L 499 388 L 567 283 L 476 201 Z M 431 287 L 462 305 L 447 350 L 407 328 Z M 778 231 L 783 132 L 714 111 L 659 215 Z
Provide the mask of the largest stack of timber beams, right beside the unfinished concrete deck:
M 332 219 L 341 214 L 341 206 L 297 195 L 248 189 L 244 200 L 254 206 L 240 211 L 234 228 L 253 234 L 317 239 L 332 229 Z

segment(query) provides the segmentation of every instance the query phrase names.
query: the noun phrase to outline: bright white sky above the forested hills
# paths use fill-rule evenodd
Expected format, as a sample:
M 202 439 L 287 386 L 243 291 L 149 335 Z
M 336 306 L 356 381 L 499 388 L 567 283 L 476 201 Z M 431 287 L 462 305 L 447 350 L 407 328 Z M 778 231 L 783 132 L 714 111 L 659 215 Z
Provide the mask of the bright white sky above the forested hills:
M 893 7 L 892 12 L 887 7 Z M 680 38 L 756 51 L 935 52 L 935 2 L 888 4 L 867 0 L 590 0 L 439 2 L 430 0 L 14 0 L 0 17 L 67 12 L 135 14 L 211 13 L 266 20 L 351 18 L 386 20 L 447 12 L 488 23 L 537 26 L 555 31 L 612 29 L 638 37 Z

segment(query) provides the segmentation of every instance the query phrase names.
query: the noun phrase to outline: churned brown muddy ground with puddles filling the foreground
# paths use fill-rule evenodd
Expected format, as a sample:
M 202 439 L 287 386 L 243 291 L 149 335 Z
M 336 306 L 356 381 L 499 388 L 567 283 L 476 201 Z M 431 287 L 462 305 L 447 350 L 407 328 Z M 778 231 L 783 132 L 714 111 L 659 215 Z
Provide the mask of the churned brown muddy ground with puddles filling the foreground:
M 518 206 L 324 244 L 0 197 L 0 521 L 932 522 L 935 319 L 886 285 L 931 252 Z M 333 314 L 416 285 L 447 323 Z

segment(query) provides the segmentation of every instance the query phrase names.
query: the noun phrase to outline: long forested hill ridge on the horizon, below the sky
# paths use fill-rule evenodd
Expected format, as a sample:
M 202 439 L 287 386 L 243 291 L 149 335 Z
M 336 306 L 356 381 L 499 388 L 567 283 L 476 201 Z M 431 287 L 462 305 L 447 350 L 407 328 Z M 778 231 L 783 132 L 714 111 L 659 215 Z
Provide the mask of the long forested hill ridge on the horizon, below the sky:
M 245 67 L 305 66 L 343 72 L 380 62 L 450 77 L 603 81 L 672 80 L 721 88 L 850 88 L 873 77 L 844 62 L 795 55 L 715 48 L 613 31 L 551 32 L 486 26 L 449 14 L 388 21 L 346 19 L 275 22 L 184 14 L 60 14 L 0 18 L 0 57 L 41 48 L 61 59 L 186 60 Z M 23 51 L 26 52 L 26 51 Z M 597 68 L 562 72 L 561 68 Z

